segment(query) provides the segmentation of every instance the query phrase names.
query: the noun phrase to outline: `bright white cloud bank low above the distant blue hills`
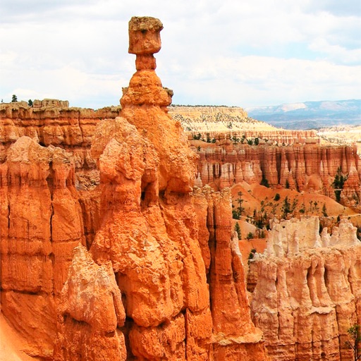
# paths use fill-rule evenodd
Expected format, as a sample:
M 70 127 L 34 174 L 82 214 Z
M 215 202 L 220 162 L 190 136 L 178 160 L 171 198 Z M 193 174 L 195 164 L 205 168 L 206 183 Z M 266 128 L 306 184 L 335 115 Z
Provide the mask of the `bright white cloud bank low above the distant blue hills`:
M 178 99 L 184 97 L 185 92 L 191 99 L 200 99 L 199 104 L 243 106 L 300 99 L 349 99 L 360 94 L 361 66 L 263 56 L 219 58 L 205 65 L 209 69 L 207 74 L 212 76 L 207 78 L 200 71 L 202 67 L 195 66 L 185 77 L 181 94 L 176 92 L 174 102 L 182 103 Z

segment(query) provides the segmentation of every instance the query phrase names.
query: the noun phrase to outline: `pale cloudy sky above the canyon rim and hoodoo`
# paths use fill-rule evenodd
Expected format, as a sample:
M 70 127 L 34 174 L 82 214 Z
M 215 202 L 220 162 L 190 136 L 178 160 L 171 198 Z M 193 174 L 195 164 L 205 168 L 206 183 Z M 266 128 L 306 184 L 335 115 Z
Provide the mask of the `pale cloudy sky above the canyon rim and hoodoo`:
M 361 0 L 0 0 L 0 98 L 118 105 L 135 73 L 128 21 L 164 25 L 173 104 L 361 99 Z

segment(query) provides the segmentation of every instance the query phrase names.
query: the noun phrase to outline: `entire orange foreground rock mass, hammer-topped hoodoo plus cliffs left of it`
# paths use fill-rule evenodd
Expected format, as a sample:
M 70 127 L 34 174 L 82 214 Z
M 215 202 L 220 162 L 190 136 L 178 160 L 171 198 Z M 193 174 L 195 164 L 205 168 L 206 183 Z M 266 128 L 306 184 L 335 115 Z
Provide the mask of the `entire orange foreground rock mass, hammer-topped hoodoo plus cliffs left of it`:
M 197 155 L 154 71 L 161 29 L 154 18 L 130 21 L 137 72 L 118 117 L 82 117 L 49 100 L 2 118 L 1 311 L 31 355 L 267 360 L 231 194 L 193 188 Z M 87 157 L 91 165 L 77 166 Z M 79 181 L 82 169 L 99 185 L 89 174 Z

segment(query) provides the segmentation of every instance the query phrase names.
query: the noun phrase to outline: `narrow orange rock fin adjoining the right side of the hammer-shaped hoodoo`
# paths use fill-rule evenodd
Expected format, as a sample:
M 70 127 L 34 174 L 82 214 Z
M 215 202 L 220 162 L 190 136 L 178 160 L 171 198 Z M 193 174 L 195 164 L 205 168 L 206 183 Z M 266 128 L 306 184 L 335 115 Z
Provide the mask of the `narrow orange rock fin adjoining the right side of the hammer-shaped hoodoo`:
M 231 192 L 204 188 L 208 201 L 209 291 L 215 360 L 263 360 L 262 334 L 250 319 L 238 237 L 232 236 Z M 231 240 L 231 242 L 230 242 Z

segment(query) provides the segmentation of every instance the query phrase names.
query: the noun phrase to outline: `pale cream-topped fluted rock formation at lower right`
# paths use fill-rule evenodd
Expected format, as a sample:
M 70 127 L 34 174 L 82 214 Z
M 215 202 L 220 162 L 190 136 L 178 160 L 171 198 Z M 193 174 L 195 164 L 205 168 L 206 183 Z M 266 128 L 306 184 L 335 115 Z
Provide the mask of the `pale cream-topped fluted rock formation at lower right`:
M 272 360 L 353 359 L 345 343 L 361 321 L 360 242 L 346 220 L 331 236 L 318 227 L 317 218 L 276 224 L 267 256 L 251 262 L 252 319 Z

